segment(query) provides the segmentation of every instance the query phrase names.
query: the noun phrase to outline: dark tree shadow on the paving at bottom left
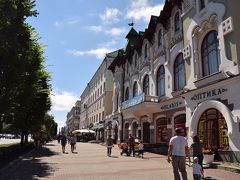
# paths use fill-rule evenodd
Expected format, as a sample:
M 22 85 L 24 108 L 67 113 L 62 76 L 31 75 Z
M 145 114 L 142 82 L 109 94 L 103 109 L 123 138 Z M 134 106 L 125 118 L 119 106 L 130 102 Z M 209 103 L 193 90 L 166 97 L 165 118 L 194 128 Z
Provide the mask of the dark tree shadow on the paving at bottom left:
M 38 147 L 3 171 L 0 179 L 32 180 L 51 176 L 57 169 L 53 168 L 54 164 L 42 162 L 41 158 L 58 154 L 47 147 Z

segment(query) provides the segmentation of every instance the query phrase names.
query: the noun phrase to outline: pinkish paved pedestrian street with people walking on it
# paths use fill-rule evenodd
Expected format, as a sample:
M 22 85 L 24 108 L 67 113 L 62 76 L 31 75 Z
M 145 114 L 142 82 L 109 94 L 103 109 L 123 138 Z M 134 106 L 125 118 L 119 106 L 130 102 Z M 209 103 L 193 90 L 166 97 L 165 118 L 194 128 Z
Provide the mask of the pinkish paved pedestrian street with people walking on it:
M 144 159 L 120 155 L 117 146 L 112 157 L 106 155 L 106 147 L 100 144 L 77 143 L 76 153 L 61 152 L 56 141 L 35 149 L 9 168 L 0 172 L 1 180 L 171 180 L 172 167 L 166 156 L 145 153 Z M 192 169 L 187 167 L 188 178 Z M 219 169 L 205 169 L 206 179 L 239 180 L 240 174 Z

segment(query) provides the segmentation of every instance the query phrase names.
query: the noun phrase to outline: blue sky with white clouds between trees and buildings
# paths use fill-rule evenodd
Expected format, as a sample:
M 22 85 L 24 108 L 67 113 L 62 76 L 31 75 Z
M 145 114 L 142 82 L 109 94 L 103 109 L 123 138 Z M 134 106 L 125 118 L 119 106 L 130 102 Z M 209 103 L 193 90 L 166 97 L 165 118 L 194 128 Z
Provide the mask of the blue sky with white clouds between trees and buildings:
M 137 31 L 158 16 L 164 0 L 36 0 L 37 17 L 27 22 L 45 45 L 51 74 L 52 109 L 58 127 L 80 99 L 106 53 L 125 47 L 129 23 Z

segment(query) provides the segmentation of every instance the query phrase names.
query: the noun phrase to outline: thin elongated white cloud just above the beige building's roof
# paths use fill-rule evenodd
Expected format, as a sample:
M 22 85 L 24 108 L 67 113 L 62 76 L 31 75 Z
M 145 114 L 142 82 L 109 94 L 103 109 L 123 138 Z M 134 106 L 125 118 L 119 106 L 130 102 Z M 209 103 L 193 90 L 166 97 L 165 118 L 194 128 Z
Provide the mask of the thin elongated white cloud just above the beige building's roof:
M 112 52 L 113 49 L 109 49 L 107 47 L 101 47 L 97 49 L 91 49 L 88 51 L 78 51 L 78 50 L 69 50 L 68 52 L 73 56 L 95 56 L 98 59 L 103 59 L 105 55 L 109 52 Z

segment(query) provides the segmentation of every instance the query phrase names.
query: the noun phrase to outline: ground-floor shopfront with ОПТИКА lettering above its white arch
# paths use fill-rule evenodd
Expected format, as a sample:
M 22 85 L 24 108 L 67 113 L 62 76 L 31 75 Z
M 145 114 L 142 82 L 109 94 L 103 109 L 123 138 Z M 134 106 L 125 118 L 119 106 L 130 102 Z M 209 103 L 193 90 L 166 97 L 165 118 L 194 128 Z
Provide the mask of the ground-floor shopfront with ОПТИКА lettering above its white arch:
M 205 149 L 225 161 L 240 160 L 240 78 L 223 80 L 186 93 L 189 144 L 198 135 Z M 224 156 L 222 154 L 224 153 Z

